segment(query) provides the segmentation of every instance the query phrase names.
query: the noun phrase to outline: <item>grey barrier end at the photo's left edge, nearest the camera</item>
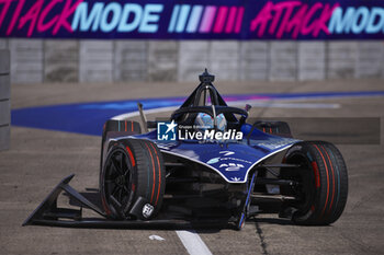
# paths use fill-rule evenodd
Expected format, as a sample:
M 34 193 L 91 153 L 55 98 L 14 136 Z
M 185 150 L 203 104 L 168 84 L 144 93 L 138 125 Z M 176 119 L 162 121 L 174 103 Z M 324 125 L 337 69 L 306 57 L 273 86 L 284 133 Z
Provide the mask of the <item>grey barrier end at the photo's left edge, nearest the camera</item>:
M 11 123 L 10 54 L 0 49 L 0 150 L 9 149 Z

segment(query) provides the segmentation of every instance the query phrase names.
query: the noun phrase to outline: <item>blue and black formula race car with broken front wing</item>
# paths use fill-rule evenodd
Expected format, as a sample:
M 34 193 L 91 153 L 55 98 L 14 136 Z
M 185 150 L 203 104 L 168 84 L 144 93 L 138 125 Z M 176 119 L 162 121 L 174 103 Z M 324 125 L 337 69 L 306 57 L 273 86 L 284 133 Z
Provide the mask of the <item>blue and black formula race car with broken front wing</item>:
M 339 150 L 329 142 L 293 139 L 286 123 L 248 123 L 250 105 L 228 106 L 206 70 L 200 81 L 166 119 L 147 121 L 139 106 L 142 125 L 105 123 L 101 206 L 69 186 L 70 175 L 24 225 L 195 228 L 225 222 L 241 229 L 246 219 L 266 211 L 297 224 L 335 222 L 348 195 Z M 80 209 L 57 207 L 63 190 Z M 84 218 L 82 208 L 102 218 Z

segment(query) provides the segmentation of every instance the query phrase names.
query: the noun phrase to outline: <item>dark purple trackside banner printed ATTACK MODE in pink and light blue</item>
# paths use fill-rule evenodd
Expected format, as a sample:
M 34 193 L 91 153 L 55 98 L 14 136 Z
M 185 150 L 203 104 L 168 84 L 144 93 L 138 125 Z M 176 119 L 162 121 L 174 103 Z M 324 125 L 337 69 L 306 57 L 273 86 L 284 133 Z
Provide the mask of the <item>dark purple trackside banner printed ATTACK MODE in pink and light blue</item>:
M 0 0 L 0 37 L 383 39 L 384 0 Z

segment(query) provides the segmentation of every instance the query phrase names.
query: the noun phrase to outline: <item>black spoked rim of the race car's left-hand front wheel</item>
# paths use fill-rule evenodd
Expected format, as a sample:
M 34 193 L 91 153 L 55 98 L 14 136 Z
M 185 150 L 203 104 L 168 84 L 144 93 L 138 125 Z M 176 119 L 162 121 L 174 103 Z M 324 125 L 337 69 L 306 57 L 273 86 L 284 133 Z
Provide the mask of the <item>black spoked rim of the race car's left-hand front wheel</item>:
M 115 149 L 109 155 L 104 167 L 105 199 L 115 216 L 125 218 L 133 196 L 133 166 L 125 150 Z

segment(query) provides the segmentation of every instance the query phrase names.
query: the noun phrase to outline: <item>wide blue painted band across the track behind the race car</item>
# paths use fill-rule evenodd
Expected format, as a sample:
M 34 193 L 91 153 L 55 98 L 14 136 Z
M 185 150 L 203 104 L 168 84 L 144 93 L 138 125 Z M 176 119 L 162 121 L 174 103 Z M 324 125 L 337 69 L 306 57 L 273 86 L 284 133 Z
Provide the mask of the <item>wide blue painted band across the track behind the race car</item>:
M 251 103 L 253 107 L 338 108 L 339 104 L 287 103 L 286 101 L 377 96 L 384 96 L 384 91 L 238 94 L 224 95 L 224 100 L 229 105 Z M 137 111 L 137 102 L 142 102 L 144 109 L 150 114 L 163 107 L 172 111 L 184 100 L 185 97 L 137 98 L 18 108 L 12 109 L 11 124 L 19 127 L 101 136 L 102 127 L 108 119 L 124 114 L 131 117 L 131 113 Z

